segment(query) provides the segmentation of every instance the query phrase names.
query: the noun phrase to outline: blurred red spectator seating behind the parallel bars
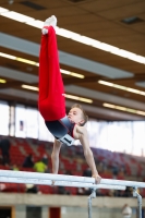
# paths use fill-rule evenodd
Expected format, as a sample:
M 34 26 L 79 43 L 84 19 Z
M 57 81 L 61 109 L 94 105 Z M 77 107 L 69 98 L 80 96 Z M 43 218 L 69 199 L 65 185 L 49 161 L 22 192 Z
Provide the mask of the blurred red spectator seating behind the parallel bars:
M 37 140 L 31 138 L 16 138 L 10 137 L 11 140 L 11 149 L 10 149 L 10 157 L 11 164 L 16 165 L 20 170 L 22 171 L 34 171 L 31 168 L 22 168 L 22 164 L 24 158 L 32 154 L 34 157 L 34 161 L 41 159 L 41 157 L 47 154 L 48 158 L 50 159 L 50 154 L 52 149 L 52 144 L 48 142 L 40 142 Z M 96 162 L 99 165 L 100 162 L 105 164 L 105 166 L 109 169 L 117 166 L 118 168 L 123 168 L 125 174 L 128 175 L 136 175 L 136 177 L 144 177 L 144 167 L 145 162 L 143 159 L 134 156 L 130 156 L 126 154 L 120 153 L 111 153 L 109 150 L 104 150 L 100 148 L 92 148 Z M 49 161 L 49 168 L 51 169 L 51 161 Z M 83 171 L 87 168 L 86 161 L 83 155 L 82 146 L 72 146 L 72 147 L 62 147 L 62 152 L 60 154 L 60 172 L 64 173 L 64 170 L 71 171 L 72 174 L 82 175 Z M 9 169 L 9 167 L 0 166 L 0 169 Z M 99 172 L 102 178 L 112 179 L 113 174 L 110 170 L 102 170 Z M 114 178 L 113 178 L 114 179 Z M 123 180 L 124 173 L 121 171 L 117 174 L 116 179 Z M 9 191 L 12 190 L 14 192 L 25 192 L 25 185 L 21 184 L 10 184 L 10 183 L 1 183 L 4 189 L 1 191 Z M 53 194 L 57 192 L 56 189 L 46 185 L 38 185 L 38 190 L 40 193 L 44 194 Z M 76 194 L 77 189 L 67 187 L 69 192 L 72 194 Z

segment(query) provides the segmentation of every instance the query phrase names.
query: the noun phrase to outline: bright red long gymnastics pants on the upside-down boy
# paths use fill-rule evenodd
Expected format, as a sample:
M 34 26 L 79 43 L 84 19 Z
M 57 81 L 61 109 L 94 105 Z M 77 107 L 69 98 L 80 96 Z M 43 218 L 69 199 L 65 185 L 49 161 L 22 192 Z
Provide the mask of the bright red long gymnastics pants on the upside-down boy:
M 52 26 L 45 28 L 48 34 L 41 36 L 38 108 L 45 121 L 53 121 L 65 117 L 65 99 L 56 32 Z

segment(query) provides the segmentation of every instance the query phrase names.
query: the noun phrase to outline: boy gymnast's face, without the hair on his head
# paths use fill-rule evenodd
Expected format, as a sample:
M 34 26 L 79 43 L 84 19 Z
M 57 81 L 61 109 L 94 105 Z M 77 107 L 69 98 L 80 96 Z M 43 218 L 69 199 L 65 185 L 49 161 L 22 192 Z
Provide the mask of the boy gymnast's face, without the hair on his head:
M 78 125 L 84 123 L 83 113 L 80 108 L 72 108 L 68 113 L 68 118 L 72 123 L 76 123 Z

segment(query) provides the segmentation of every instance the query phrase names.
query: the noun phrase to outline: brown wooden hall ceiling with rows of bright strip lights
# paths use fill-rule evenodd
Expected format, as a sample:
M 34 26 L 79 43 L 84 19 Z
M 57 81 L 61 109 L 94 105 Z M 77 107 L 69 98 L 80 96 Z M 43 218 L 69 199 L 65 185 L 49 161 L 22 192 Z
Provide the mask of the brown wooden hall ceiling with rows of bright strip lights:
M 67 108 L 81 102 L 96 119 L 144 120 L 144 0 L 1 0 L 0 99 L 37 106 L 38 92 L 27 87 L 38 86 L 41 22 L 50 15 L 58 19 Z

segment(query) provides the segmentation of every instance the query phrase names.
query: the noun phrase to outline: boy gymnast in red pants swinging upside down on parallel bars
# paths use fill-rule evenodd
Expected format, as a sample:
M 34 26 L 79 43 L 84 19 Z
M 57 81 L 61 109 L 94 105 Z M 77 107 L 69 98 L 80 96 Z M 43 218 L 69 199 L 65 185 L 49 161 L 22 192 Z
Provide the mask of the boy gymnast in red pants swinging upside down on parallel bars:
M 69 114 L 65 114 L 64 88 L 59 66 L 56 26 L 57 19 L 51 16 L 46 20 L 41 31 L 38 99 L 39 111 L 48 130 L 56 138 L 51 154 L 52 173 L 57 174 L 59 170 L 59 153 L 62 143 L 70 146 L 74 140 L 80 140 L 92 175 L 95 178 L 96 183 L 99 183 L 101 178 L 96 169 L 94 156 L 89 148 L 87 130 L 84 126 L 87 122 L 87 116 L 80 105 L 74 105 Z

